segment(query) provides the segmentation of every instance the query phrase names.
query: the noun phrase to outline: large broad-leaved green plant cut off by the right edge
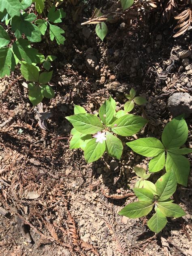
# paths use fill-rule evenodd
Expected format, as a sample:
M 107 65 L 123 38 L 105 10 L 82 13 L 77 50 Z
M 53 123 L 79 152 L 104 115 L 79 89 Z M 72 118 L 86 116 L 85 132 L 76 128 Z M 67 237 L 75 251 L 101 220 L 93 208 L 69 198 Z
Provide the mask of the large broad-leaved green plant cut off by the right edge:
M 162 142 L 156 138 L 142 138 L 126 144 L 137 154 L 153 157 L 149 161 L 149 172 L 158 172 L 165 166 L 166 172 L 175 172 L 179 184 L 187 186 L 190 162 L 183 155 L 191 153 L 192 149 L 180 148 L 187 138 L 188 126 L 183 115 L 179 115 L 165 126 Z

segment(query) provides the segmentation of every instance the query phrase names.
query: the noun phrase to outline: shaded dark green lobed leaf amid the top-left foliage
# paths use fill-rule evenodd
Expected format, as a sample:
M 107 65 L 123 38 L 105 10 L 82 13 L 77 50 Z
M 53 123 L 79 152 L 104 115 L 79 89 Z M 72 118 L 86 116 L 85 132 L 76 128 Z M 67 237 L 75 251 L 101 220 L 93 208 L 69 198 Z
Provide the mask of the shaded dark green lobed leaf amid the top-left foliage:
M 15 36 L 20 38 L 25 34 L 30 42 L 41 42 L 41 32 L 32 21 L 36 19 L 34 13 L 24 13 L 19 17 L 14 16 L 11 21 L 11 30 L 15 31 Z

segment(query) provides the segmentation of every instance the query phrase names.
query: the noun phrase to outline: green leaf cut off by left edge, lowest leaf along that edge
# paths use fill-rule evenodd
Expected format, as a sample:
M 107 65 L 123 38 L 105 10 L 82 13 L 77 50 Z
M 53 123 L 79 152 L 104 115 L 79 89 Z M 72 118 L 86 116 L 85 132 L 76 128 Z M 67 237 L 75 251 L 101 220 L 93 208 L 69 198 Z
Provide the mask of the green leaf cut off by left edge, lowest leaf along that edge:
M 0 49 L 0 77 L 10 75 L 16 66 L 15 58 L 10 47 Z M 10 70 L 11 69 L 11 70 Z

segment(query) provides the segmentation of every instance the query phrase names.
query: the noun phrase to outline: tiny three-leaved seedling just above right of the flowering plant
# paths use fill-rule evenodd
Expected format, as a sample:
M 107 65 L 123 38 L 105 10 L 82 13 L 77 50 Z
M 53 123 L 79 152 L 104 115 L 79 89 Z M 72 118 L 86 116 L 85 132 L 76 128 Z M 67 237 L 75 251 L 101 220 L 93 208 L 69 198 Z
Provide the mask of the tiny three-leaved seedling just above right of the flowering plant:
M 131 88 L 129 94 L 126 94 L 126 98 L 128 98 L 128 101 L 125 103 L 124 105 L 124 111 L 125 112 L 130 112 L 132 111 L 132 109 L 134 108 L 134 104 L 136 105 L 143 105 L 145 103 L 147 103 L 148 101 L 141 97 L 141 96 L 136 96 L 136 91 Z

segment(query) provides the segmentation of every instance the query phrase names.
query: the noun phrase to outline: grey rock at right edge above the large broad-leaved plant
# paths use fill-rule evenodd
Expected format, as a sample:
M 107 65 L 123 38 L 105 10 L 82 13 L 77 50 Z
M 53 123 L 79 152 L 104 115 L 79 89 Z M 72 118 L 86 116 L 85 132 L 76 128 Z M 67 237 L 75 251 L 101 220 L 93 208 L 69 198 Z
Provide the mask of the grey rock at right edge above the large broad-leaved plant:
M 169 97 L 167 106 L 173 117 L 183 113 L 188 117 L 192 113 L 192 96 L 186 92 L 174 93 Z

